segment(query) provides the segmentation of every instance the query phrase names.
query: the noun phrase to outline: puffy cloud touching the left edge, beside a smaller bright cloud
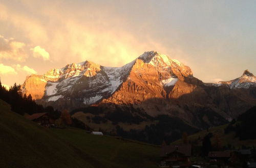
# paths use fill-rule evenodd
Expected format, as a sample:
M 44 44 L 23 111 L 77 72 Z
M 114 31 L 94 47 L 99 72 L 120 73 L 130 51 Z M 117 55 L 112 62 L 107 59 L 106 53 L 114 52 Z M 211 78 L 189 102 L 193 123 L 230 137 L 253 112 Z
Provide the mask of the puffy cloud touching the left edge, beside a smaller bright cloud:
M 0 35 L 0 59 L 25 61 L 28 58 L 26 44 L 15 41 L 13 38 L 6 39 Z

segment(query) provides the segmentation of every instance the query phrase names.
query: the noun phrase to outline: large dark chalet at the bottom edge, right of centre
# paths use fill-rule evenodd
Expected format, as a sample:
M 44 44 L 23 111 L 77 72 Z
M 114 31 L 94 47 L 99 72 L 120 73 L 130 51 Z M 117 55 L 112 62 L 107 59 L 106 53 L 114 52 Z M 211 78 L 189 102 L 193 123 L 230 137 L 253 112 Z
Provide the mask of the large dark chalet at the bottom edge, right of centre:
M 191 145 L 169 145 L 161 149 L 161 167 L 189 167 Z

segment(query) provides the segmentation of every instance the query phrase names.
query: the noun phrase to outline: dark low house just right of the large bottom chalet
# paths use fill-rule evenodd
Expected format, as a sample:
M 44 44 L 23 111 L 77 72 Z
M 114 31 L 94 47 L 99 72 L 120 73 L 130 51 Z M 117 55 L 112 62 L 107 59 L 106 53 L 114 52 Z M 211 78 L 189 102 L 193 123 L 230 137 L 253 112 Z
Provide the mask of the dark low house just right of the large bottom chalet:
M 211 162 L 227 164 L 231 157 L 231 151 L 212 151 L 208 153 L 208 158 Z

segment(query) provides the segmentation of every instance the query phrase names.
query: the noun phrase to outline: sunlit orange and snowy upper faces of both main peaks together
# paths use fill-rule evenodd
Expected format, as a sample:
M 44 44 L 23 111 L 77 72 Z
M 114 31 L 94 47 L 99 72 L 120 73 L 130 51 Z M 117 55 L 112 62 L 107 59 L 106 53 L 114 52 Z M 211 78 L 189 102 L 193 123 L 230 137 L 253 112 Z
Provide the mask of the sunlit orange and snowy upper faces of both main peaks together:
M 193 77 L 189 67 L 150 51 L 122 67 L 103 67 L 86 61 L 52 69 L 44 75 L 31 75 L 23 89 L 33 98 L 44 100 L 41 102 L 52 101 L 52 105 L 59 99 L 70 101 L 70 105 L 74 102 L 94 104 L 101 100 L 130 104 L 166 98 L 175 83 L 186 77 Z M 73 108 L 72 105 L 69 108 Z

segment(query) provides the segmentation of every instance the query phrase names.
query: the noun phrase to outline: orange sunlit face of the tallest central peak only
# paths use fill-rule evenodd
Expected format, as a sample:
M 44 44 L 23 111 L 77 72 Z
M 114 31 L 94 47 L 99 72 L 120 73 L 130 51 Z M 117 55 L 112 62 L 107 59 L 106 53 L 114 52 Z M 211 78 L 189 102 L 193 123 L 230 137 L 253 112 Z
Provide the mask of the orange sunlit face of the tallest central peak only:
M 145 52 L 134 61 L 120 89 L 102 103 L 135 104 L 148 99 L 165 99 L 169 90 L 184 77 L 193 77 L 189 67 L 158 52 Z

